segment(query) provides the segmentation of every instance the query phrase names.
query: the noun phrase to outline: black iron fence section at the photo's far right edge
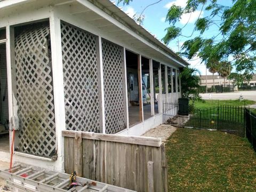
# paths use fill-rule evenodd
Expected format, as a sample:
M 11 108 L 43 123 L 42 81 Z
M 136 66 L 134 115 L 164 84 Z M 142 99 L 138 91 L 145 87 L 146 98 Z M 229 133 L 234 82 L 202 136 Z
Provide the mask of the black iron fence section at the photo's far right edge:
M 247 108 L 245 108 L 245 121 L 246 138 L 256 151 L 256 114 L 251 113 L 250 109 Z

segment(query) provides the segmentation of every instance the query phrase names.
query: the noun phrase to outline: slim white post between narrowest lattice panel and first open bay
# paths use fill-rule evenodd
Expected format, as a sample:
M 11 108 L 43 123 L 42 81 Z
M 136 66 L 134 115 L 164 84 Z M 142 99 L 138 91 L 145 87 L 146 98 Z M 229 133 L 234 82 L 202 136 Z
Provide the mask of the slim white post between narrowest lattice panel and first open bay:
M 128 89 L 127 89 L 127 71 L 126 71 L 126 52 L 123 48 L 123 89 L 124 89 L 124 117 L 126 121 L 126 128 L 129 129 L 129 103 L 128 103 Z

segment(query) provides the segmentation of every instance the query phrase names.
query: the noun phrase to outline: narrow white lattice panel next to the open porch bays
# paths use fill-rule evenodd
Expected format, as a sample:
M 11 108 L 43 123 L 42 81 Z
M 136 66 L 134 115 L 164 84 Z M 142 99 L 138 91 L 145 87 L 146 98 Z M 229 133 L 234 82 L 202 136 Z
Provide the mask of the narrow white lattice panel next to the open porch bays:
M 125 129 L 122 47 L 102 41 L 106 133 Z

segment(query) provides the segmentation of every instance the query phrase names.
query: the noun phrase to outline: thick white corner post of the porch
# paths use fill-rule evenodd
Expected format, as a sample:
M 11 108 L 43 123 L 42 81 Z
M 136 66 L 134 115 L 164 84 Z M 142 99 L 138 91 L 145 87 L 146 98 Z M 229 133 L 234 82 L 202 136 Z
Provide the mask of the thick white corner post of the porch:
M 64 170 L 64 138 L 61 136 L 62 130 L 66 130 L 65 121 L 65 95 L 63 83 L 63 64 L 62 64 L 62 48 L 61 48 L 61 29 L 60 18 L 51 10 L 50 15 L 50 35 L 52 50 L 52 81 L 54 95 L 54 113 L 55 113 L 55 129 L 58 159 L 55 167 L 57 170 Z

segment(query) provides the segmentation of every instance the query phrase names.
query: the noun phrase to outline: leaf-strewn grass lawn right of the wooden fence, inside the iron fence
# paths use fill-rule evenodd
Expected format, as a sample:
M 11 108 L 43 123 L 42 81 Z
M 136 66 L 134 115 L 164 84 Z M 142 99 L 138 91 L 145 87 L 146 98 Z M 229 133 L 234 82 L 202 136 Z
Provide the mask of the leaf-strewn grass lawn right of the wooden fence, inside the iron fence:
M 169 191 L 256 189 L 256 153 L 244 138 L 179 128 L 165 146 Z

